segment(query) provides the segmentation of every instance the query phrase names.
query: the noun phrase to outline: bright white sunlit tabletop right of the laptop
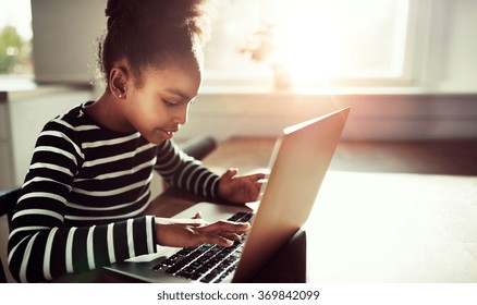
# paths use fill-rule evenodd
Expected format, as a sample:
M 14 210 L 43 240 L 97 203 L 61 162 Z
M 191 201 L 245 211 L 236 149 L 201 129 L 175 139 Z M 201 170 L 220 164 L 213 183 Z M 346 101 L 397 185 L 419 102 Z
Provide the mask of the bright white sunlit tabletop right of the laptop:
M 310 282 L 477 282 L 477 178 L 329 172 L 307 232 Z

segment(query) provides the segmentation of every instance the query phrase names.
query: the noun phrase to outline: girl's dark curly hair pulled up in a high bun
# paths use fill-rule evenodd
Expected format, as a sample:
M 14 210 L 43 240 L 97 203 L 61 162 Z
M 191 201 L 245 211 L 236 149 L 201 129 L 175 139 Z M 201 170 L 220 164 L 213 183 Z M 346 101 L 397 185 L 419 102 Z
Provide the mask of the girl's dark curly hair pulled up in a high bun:
M 108 0 L 107 32 L 98 61 L 108 77 L 113 63 L 126 59 L 138 84 L 144 68 L 164 68 L 195 52 L 207 37 L 206 0 Z

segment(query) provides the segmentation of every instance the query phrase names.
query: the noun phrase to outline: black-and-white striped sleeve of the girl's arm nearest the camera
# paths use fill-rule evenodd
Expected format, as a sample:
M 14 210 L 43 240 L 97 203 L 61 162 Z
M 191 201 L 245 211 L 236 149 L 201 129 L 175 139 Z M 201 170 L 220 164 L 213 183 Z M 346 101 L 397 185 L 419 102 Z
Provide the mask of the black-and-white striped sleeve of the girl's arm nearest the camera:
M 156 252 L 154 217 L 68 227 L 64 215 L 83 156 L 74 131 L 48 123 L 38 136 L 9 236 L 19 282 L 41 282 Z

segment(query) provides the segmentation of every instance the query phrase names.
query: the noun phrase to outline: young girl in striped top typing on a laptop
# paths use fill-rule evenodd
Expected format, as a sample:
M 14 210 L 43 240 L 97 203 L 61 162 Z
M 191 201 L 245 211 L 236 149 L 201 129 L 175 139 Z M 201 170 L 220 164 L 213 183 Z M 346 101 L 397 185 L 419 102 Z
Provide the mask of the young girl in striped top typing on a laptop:
M 48 122 L 9 239 L 21 282 L 54 279 L 156 252 L 229 246 L 249 224 L 142 216 L 152 170 L 172 185 L 234 203 L 255 200 L 261 174 L 218 176 L 171 141 L 201 82 L 200 3 L 109 0 L 99 58 L 107 89 Z

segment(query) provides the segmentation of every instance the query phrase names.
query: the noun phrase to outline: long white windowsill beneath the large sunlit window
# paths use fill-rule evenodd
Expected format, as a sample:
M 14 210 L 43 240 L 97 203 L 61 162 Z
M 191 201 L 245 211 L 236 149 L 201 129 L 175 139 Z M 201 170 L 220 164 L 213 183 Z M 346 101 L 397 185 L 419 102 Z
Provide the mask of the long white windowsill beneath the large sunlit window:
M 455 96 L 477 95 L 470 82 L 442 81 L 424 84 L 411 76 L 366 76 L 337 80 L 290 80 L 289 88 L 277 88 L 272 74 L 256 75 L 205 71 L 200 95 L 228 96 Z

